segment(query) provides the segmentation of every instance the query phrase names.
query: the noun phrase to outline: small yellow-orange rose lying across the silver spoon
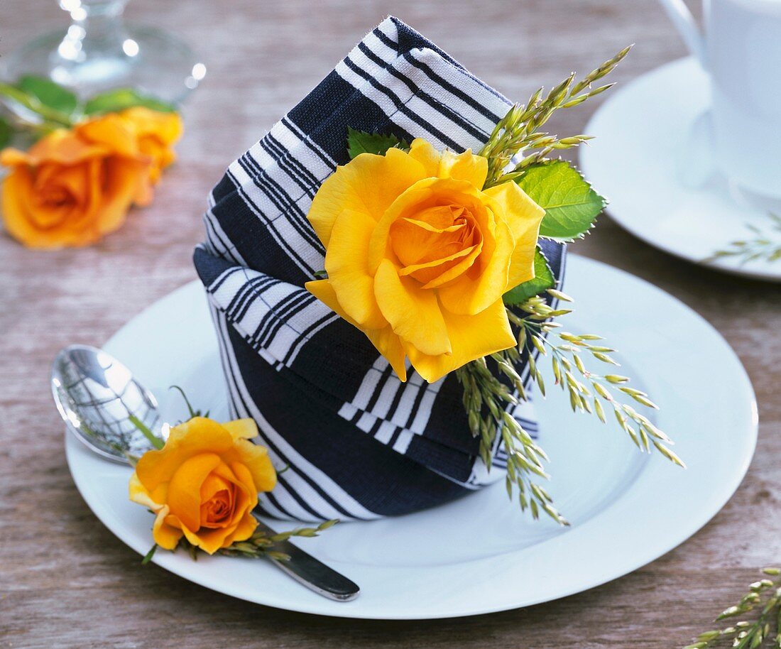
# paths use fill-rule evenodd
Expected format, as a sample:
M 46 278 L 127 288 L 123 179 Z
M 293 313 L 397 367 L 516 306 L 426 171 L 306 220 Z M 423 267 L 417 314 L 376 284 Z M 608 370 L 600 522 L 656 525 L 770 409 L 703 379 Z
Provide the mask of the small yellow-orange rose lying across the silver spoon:
M 155 512 L 156 544 L 173 550 L 185 537 L 212 555 L 252 536 L 258 492 L 276 485 L 266 448 L 249 441 L 257 434 L 252 419 L 194 417 L 174 426 L 162 449 L 144 453 L 130 500 Z

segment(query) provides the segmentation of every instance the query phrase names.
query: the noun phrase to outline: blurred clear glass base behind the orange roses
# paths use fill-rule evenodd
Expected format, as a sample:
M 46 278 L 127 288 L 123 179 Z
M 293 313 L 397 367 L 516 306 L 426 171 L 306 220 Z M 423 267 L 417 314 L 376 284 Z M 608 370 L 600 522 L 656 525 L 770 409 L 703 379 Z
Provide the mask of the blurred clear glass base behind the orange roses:
M 132 87 L 173 104 L 198 87 L 206 73 L 184 41 L 134 23 L 104 39 L 91 38 L 74 24 L 37 37 L 0 61 L 2 76 L 10 82 L 27 74 L 49 77 L 81 98 Z

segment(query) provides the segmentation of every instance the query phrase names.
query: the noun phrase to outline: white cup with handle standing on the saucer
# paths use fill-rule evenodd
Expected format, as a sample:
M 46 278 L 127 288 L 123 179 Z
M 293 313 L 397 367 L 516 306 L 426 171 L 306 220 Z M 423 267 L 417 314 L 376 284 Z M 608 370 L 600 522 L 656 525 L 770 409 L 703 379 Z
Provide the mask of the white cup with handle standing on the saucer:
M 659 0 L 711 77 L 715 163 L 738 186 L 781 198 L 781 0 Z

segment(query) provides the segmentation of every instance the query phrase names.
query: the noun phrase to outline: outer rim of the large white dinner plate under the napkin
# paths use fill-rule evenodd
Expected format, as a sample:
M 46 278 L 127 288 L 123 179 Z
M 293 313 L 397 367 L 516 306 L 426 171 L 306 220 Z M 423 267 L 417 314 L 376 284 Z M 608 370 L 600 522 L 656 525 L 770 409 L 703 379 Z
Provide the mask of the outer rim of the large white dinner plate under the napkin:
M 266 606 L 271 606 L 273 608 L 279 608 L 280 610 L 303 612 L 303 613 L 314 614 L 314 615 L 328 615 L 332 617 L 344 617 L 348 619 L 394 619 L 394 620 L 446 619 L 446 618 L 466 617 L 470 615 L 484 615 L 492 612 L 507 611 L 515 608 L 531 606 L 534 604 L 541 604 L 546 601 L 554 601 L 562 597 L 569 597 L 572 594 L 580 593 L 585 590 L 590 590 L 591 588 L 601 586 L 604 583 L 608 583 L 614 579 L 619 579 L 622 576 L 626 576 L 630 572 L 634 572 L 635 570 L 639 569 L 643 565 L 647 565 L 648 563 L 656 560 L 657 558 L 660 558 L 663 555 L 667 554 L 669 551 L 672 551 L 672 549 L 678 547 L 680 544 L 683 544 L 686 540 L 688 540 L 695 533 L 697 533 L 697 531 L 701 530 L 703 526 L 705 526 L 715 515 L 717 515 L 721 511 L 724 505 L 726 505 L 729 499 L 733 496 L 737 488 L 740 487 L 740 483 L 743 482 L 744 476 L 746 475 L 749 465 L 751 465 L 751 460 L 754 456 L 754 451 L 756 448 L 756 443 L 758 438 L 757 404 L 756 404 L 756 396 L 754 394 L 754 387 L 751 384 L 751 380 L 747 375 L 743 367 L 743 364 L 740 362 L 740 358 L 736 355 L 735 351 L 730 347 L 729 343 L 724 339 L 724 337 L 722 337 L 721 333 L 719 333 L 719 331 L 716 330 L 714 326 L 708 323 L 706 319 L 700 316 L 689 305 L 686 305 L 683 301 L 678 300 L 674 296 L 668 294 L 666 291 L 663 291 L 661 288 L 654 286 L 654 284 L 647 282 L 647 280 L 642 280 L 641 278 L 637 276 L 633 276 L 631 273 L 627 273 L 622 269 L 618 269 L 613 266 L 608 266 L 608 264 L 605 264 L 604 262 L 599 262 L 595 259 L 585 258 L 580 255 L 571 255 L 571 256 L 575 258 L 571 260 L 575 261 L 576 265 L 580 263 L 585 263 L 587 265 L 593 264 L 595 268 L 598 269 L 600 272 L 604 272 L 605 270 L 607 270 L 608 273 L 619 273 L 621 276 L 624 276 L 624 279 L 642 283 L 645 289 L 649 291 L 657 292 L 659 294 L 664 294 L 664 296 L 666 296 L 667 299 L 676 301 L 679 306 L 682 306 L 688 312 L 690 312 L 690 316 L 694 316 L 694 319 L 697 321 L 698 325 L 705 326 L 708 330 L 711 331 L 711 333 L 714 333 L 715 336 L 719 337 L 720 341 L 722 341 L 724 351 L 729 353 L 733 362 L 736 363 L 736 367 L 742 370 L 740 376 L 735 376 L 734 380 L 736 383 L 743 383 L 743 388 L 744 389 L 747 388 L 748 390 L 747 394 L 751 395 L 750 406 L 751 406 L 751 412 L 753 413 L 753 418 L 751 423 L 747 424 L 747 428 L 746 428 L 747 437 L 745 437 L 744 439 L 744 443 L 747 442 L 747 445 L 745 445 L 744 452 L 741 455 L 740 465 L 736 465 L 735 471 L 731 473 L 732 480 L 730 480 L 727 483 L 726 489 L 722 489 L 722 491 L 720 492 L 721 494 L 720 497 L 716 499 L 716 504 L 711 505 L 709 508 L 707 508 L 707 513 L 703 513 L 699 518 L 694 519 L 694 522 L 692 522 L 692 519 L 690 519 L 688 521 L 690 524 L 686 526 L 684 532 L 678 533 L 676 535 L 669 535 L 668 537 L 669 540 L 667 542 L 665 542 L 661 546 L 654 547 L 652 551 L 648 551 L 646 553 L 638 553 L 636 555 L 637 560 L 634 562 L 629 562 L 629 565 L 631 565 L 631 567 L 629 568 L 626 568 L 626 565 L 623 565 L 620 569 L 618 569 L 618 571 L 608 572 L 604 576 L 596 579 L 594 579 L 593 576 L 590 579 L 589 578 L 580 579 L 580 581 L 575 579 L 572 581 L 570 587 L 566 587 L 558 590 L 555 596 L 552 597 L 548 596 L 547 594 L 542 594 L 540 595 L 540 597 L 526 598 L 523 601 L 507 601 L 505 602 L 505 604 L 501 604 L 501 605 L 486 604 L 485 606 L 480 606 L 479 604 L 477 604 L 477 605 L 470 606 L 468 611 L 460 610 L 459 608 L 459 610 L 455 610 L 451 612 L 437 612 L 436 614 L 432 614 L 430 612 L 423 612 L 421 614 L 414 614 L 410 612 L 394 614 L 394 612 L 392 611 L 386 612 L 383 615 L 376 615 L 376 613 L 371 614 L 370 612 L 362 612 L 361 610 L 355 610 L 354 606 L 351 605 L 351 604 L 358 603 L 360 601 L 360 598 L 358 599 L 358 601 L 352 603 L 335 604 L 333 602 L 326 601 L 324 599 L 323 601 L 316 601 L 316 600 L 307 601 L 305 597 L 301 597 L 301 605 L 291 606 L 289 604 L 285 604 L 284 602 L 280 603 L 280 601 L 273 601 L 273 592 L 264 591 L 262 589 L 255 591 L 254 594 L 256 595 L 256 597 L 248 597 L 247 593 L 245 591 L 242 591 L 241 588 L 215 587 L 213 583 L 209 583 L 209 579 L 200 576 L 198 571 L 194 571 L 194 570 L 183 571 L 178 568 L 176 561 L 169 561 L 169 559 L 174 560 L 178 558 L 178 555 L 170 555 L 170 557 L 168 555 L 163 555 L 160 558 L 155 556 L 155 558 L 153 558 L 153 562 L 155 562 L 155 564 L 159 565 L 161 568 L 166 569 L 167 571 L 172 572 L 173 574 L 176 574 L 177 576 L 187 579 L 193 583 L 198 583 L 198 585 L 202 587 L 206 587 L 209 588 L 210 590 L 215 590 L 216 592 L 230 595 L 231 597 L 237 597 L 244 601 L 250 601 L 256 604 L 262 604 Z M 137 316 L 134 316 L 134 318 L 131 318 L 127 323 L 125 323 L 122 327 L 120 327 L 119 330 L 117 330 L 117 332 L 112 335 L 112 337 L 109 338 L 109 341 L 107 341 L 105 344 L 105 348 L 110 348 L 112 341 L 114 341 L 116 337 L 120 335 L 120 333 L 127 330 L 127 328 L 133 326 L 134 322 L 136 322 L 137 319 L 141 319 L 144 316 L 148 316 L 149 312 L 151 312 L 152 309 L 154 308 L 160 308 L 159 304 L 162 301 L 165 301 L 166 299 L 173 299 L 173 296 L 175 294 L 179 294 L 180 292 L 186 292 L 188 290 L 191 291 L 192 286 L 194 284 L 198 284 L 198 280 L 194 280 L 190 283 L 185 284 L 182 287 L 177 288 L 175 291 L 172 291 L 169 294 L 163 296 L 162 298 L 159 298 L 159 300 L 153 302 L 152 305 L 149 305 L 147 308 L 144 308 L 144 310 L 142 310 L 139 314 L 137 314 Z M 102 505 L 98 503 L 94 491 L 91 491 L 87 488 L 87 483 L 86 483 L 87 481 L 85 480 L 87 476 L 81 475 L 78 471 L 74 471 L 74 466 L 73 466 L 74 458 L 75 458 L 74 452 L 77 452 L 77 449 L 80 449 L 80 444 L 77 443 L 77 440 L 74 440 L 70 435 L 66 435 L 66 458 L 67 458 L 68 468 L 70 470 L 71 476 L 73 476 L 73 481 L 74 483 L 76 483 L 77 489 L 79 490 L 81 496 L 84 498 L 84 501 L 86 502 L 87 506 L 92 510 L 92 512 L 96 515 L 96 517 L 99 520 L 101 520 L 101 522 L 106 527 L 108 527 L 109 530 L 117 538 L 119 538 L 119 540 L 122 540 L 124 544 L 127 544 L 134 551 L 137 551 L 138 553 L 143 555 L 145 552 L 143 548 L 136 547 L 136 544 L 132 543 L 131 540 L 128 540 L 127 534 L 124 533 L 123 530 L 119 529 L 119 526 L 115 527 L 112 524 L 112 522 L 107 522 L 104 519 L 104 517 L 99 513 L 102 510 Z M 722 482 L 721 484 L 723 487 L 725 483 Z M 607 511 L 609 511 L 609 508 L 603 510 L 601 514 Z M 706 512 L 705 509 L 702 509 L 701 511 Z M 589 523 L 596 524 L 597 521 L 595 519 L 598 518 L 599 515 L 595 516 L 594 519 L 587 520 L 583 524 L 583 526 L 577 527 L 576 530 L 587 527 Z M 552 539 L 543 541 L 542 544 L 545 544 L 556 538 L 558 537 L 552 537 Z M 514 554 L 515 552 L 519 552 L 519 551 L 512 551 L 508 554 Z M 481 562 L 481 561 L 487 562 L 493 558 L 494 557 L 479 558 L 479 559 L 472 560 L 472 562 Z M 465 563 L 469 563 L 469 562 L 463 562 L 463 564 Z M 332 564 L 335 566 L 349 565 L 340 562 L 332 562 Z M 587 582 L 587 583 L 583 583 L 583 582 Z M 512 600 L 512 597 L 509 597 L 508 599 Z

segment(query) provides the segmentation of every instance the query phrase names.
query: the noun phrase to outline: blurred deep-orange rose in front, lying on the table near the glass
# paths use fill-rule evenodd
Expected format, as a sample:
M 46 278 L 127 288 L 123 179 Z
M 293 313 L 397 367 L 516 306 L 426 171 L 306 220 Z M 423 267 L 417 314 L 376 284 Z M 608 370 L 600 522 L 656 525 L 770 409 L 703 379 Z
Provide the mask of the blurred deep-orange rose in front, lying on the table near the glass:
M 7 148 L 0 164 L 11 169 L 2 183 L 5 228 L 31 248 L 95 243 L 150 195 L 151 160 L 116 115 L 55 130 L 28 152 Z

